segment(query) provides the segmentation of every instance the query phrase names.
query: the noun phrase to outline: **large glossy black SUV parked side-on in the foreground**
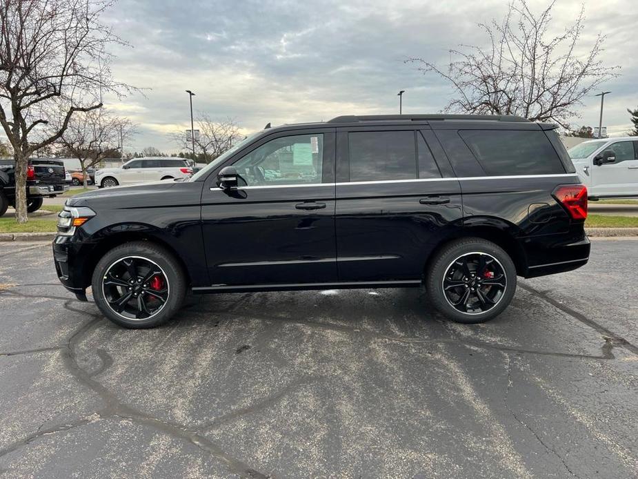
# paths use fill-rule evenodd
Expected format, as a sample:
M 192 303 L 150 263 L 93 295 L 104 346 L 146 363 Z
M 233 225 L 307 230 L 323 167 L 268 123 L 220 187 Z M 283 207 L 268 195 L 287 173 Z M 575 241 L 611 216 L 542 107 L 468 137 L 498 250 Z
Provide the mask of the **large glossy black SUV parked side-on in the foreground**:
M 425 286 L 459 322 L 517 275 L 586 264 L 587 190 L 554 126 L 519 117 L 337 117 L 255 133 L 183 182 L 69 199 L 54 258 L 122 326 L 193 293 Z

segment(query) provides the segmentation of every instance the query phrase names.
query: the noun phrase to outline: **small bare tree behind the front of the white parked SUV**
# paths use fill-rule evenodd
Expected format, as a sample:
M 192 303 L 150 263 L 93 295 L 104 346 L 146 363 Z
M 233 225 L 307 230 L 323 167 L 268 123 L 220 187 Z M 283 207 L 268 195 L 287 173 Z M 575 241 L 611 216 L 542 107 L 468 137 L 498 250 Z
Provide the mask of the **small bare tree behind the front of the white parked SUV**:
M 87 168 L 120 153 L 123 142 L 135 133 L 129 119 L 111 115 L 101 108 L 73 115 L 57 144 L 70 157 L 79 160 L 86 188 Z

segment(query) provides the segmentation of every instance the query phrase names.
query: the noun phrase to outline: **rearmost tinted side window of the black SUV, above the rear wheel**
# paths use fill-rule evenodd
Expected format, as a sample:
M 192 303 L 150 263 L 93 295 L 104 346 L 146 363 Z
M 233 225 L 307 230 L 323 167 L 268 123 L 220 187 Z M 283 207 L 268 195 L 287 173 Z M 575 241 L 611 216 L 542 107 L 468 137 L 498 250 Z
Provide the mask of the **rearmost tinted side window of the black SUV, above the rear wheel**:
M 541 130 L 459 130 L 488 176 L 565 173 Z

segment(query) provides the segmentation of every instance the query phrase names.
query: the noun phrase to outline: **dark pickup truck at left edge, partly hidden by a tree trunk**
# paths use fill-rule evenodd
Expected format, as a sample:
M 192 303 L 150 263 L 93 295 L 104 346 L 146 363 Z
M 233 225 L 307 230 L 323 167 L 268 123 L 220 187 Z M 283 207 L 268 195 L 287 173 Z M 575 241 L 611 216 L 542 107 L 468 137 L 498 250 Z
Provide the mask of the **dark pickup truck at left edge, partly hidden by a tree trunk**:
M 56 159 L 30 159 L 27 170 L 27 211 L 42 206 L 44 197 L 54 197 L 69 189 L 64 163 Z M 15 161 L 0 159 L 0 216 L 15 206 Z

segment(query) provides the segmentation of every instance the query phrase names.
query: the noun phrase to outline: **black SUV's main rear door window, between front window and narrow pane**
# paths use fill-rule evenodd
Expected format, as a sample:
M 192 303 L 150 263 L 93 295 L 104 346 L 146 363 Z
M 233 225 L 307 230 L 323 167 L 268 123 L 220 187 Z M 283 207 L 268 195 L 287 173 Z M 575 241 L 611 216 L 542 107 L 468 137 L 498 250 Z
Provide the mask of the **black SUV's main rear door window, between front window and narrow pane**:
M 350 182 L 417 178 L 415 132 L 348 133 Z

